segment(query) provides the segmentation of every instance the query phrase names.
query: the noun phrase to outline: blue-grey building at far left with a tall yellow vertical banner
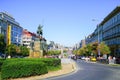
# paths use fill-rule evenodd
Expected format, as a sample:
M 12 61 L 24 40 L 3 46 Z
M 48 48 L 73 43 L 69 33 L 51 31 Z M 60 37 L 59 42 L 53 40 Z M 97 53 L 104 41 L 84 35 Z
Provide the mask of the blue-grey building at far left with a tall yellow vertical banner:
M 15 19 L 5 12 L 0 12 L 0 34 L 5 36 L 5 42 L 7 45 L 22 43 L 22 31 L 23 28 Z

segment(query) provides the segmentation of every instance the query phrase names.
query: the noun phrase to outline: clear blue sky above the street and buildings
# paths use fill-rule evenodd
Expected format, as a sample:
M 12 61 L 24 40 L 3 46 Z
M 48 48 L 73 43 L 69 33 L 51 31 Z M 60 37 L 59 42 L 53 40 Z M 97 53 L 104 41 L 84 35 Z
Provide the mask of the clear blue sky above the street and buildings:
M 73 46 L 119 5 L 120 0 L 0 0 L 0 12 L 8 12 L 30 32 L 43 25 L 47 41 Z

